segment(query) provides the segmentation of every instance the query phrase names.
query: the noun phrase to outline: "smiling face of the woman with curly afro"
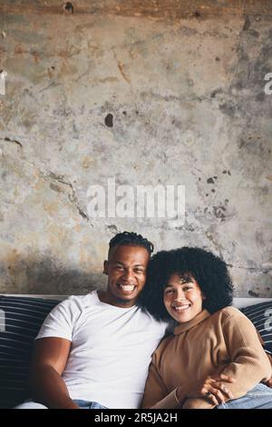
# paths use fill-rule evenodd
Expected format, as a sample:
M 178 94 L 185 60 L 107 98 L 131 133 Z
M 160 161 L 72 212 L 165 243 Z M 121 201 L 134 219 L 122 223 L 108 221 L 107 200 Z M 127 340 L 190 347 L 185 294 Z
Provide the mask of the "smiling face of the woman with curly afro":
M 178 323 L 185 323 L 202 311 L 204 298 L 199 284 L 189 273 L 183 277 L 174 273 L 164 289 L 163 301 L 170 316 Z

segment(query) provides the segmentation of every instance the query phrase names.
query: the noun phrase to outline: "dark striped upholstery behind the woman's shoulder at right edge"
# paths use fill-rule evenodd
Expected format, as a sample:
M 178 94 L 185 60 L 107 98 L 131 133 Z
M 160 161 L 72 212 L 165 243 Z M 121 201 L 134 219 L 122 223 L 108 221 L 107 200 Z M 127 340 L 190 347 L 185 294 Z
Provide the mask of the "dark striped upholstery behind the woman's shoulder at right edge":
M 272 353 L 272 301 L 250 305 L 241 311 L 254 323 L 264 341 L 265 350 Z

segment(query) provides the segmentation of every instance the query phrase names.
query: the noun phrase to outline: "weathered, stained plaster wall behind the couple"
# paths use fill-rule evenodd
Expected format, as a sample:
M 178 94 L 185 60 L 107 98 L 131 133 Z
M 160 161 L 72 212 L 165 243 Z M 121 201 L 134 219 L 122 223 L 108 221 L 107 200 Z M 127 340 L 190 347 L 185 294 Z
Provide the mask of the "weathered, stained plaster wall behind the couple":
M 271 15 L 7 14 L 0 38 L 0 293 L 101 287 L 109 239 L 133 230 L 272 296 Z M 185 184 L 184 226 L 89 218 L 89 185 L 114 177 Z

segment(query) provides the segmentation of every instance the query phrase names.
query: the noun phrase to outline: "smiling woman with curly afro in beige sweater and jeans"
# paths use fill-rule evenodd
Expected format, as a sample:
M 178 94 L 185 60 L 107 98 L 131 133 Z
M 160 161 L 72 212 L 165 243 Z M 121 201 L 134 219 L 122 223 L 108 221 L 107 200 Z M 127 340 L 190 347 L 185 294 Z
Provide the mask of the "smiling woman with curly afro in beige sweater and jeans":
M 176 321 L 153 354 L 142 407 L 272 408 L 271 365 L 248 318 L 231 307 L 226 263 L 199 248 L 153 256 L 141 303 Z M 145 303 L 143 303 L 145 302 Z

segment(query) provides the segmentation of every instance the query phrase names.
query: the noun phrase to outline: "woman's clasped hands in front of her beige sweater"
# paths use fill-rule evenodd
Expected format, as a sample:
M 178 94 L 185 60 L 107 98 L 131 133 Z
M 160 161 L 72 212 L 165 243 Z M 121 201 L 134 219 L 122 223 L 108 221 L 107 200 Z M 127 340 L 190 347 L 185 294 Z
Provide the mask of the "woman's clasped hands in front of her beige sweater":
M 235 381 L 234 378 L 224 373 L 210 375 L 205 379 L 187 383 L 185 391 L 182 386 L 178 387 L 177 397 L 181 405 L 188 398 L 206 397 L 211 403 L 218 406 L 228 399 L 233 399 L 233 394 L 228 390 L 225 382 Z

